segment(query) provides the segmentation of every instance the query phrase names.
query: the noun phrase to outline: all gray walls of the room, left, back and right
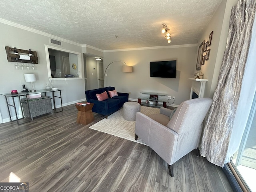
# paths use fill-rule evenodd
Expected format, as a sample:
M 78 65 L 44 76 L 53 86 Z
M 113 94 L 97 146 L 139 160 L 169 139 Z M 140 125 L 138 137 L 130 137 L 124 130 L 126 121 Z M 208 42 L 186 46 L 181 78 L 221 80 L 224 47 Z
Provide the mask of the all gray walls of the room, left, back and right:
M 206 83 L 206 97 L 212 97 L 216 88 L 226 46 L 230 12 L 236 2 L 237 0 L 223 0 L 198 41 L 198 45 L 203 40 L 208 41 L 210 32 L 214 31 L 212 45 L 210 46 L 210 59 L 202 66 L 202 72 L 205 74 L 204 78 L 209 80 Z M 22 84 L 26 84 L 29 88 L 31 86 L 31 84 L 25 82 L 24 74 L 32 73 L 32 71 L 15 70 L 15 63 L 7 61 L 4 46 L 37 51 L 39 64 L 36 64 L 36 70 L 33 71 L 37 77 L 34 87 L 35 89 L 43 89 L 46 83 L 49 82 L 44 48 L 45 44 L 49 45 L 49 37 L 42 32 L 30 32 L 31 29 L 24 30 L 22 26 L 16 24 L 14 26 L 0 23 L 0 44 L 2 45 L 0 49 L 0 66 L 2 68 L 0 93 L 10 93 L 10 90 L 18 90 L 20 92 Z M 51 46 L 53 45 L 51 44 Z M 190 96 L 191 81 L 188 78 L 193 78 L 193 74 L 196 71 L 198 46 L 109 50 L 103 53 L 99 48 L 94 49 L 91 46 L 62 41 L 62 48 L 74 52 L 89 53 L 99 57 L 104 56 L 104 70 L 110 62 L 116 60 L 124 61 L 126 64 L 133 66 L 134 72 L 126 74 L 121 72 L 122 63 L 115 62 L 107 70 L 107 77 L 105 77 L 105 86 L 115 86 L 120 92 L 131 92 L 129 97 L 132 100 L 136 100 L 140 96 L 141 91 L 164 92 L 168 96 L 175 96 L 174 104 L 176 105 L 187 100 Z M 149 62 L 160 60 L 177 60 L 176 79 L 150 77 Z M 84 63 L 84 57 L 82 57 L 82 63 Z M 96 60 L 94 57 L 86 57 L 85 63 L 88 89 L 97 88 Z M 85 99 L 84 65 L 82 66 L 83 79 L 53 81 L 55 87 L 64 89 L 62 92 L 64 106 Z M 92 73 L 94 74 L 93 76 Z M 57 105 L 59 104 L 60 102 L 57 100 Z M 0 96 L 0 114 L 4 122 L 9 120 L 4 96 Z

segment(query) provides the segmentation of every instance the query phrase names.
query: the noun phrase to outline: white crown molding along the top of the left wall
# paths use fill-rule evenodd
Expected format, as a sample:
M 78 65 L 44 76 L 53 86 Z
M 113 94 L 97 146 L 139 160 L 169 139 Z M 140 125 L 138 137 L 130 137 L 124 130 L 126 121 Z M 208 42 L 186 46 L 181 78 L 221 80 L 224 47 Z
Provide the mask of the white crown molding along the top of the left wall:
M 2 18 L 0 18 L 0 23 L 6 24 L 6 25 L 10 25 L 10 26 L 13 26 L 13 27 L 16 27 L 16 28 L 20 28 L 20 29 L 23 29 L 23 30 L 26 30 L 26 31 L 30 31 L 30 32 L 33 32 L 33 33 L 36 33 L 36 34 L 40 34 L 40 35 L 43 35 L 43 36 L 54 38 L 56 40 L 60 40 L 62 42 L 66 42 L 66 43 L 69 43 L 69 44 L 73 44 L 73 45 L 82 47 L 82 44 L 79 44 L 79 43 L 76 43 L 76 42 L 72 42 L 70 40 L 66 40 L 64 38 L 60 38 L 58 36 L 54 36 L 54 35 L 51 35 L 51 34 L 48 34 L 48 33 L 45 33 L 45 32 L 39 31 L 39 30 L 36 30 L 36 29 L 32 29 L 30 27 L 26 27 L 24 25 L 20 25 L 20 24 L 17 24 L 17 23 L 14 23 L 14 22 L 2 19 Z

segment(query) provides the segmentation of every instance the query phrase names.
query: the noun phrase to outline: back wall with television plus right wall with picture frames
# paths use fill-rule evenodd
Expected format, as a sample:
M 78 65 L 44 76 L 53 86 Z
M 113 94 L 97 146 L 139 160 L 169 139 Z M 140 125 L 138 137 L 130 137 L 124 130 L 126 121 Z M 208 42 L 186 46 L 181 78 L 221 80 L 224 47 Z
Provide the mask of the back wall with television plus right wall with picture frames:
M 141 91 L 164 92 L 168 96 L 176 97 L 174 104 L 180 104 L 190 96 L 192 82 L 187 78 L 194 78 L 198 46 L 203 40 L 207 42 L 210 32 L 214 31 L 212 45 L 209 47 L 211 49 L 210 58 L 201 68 L 204 73 L 204 79 L 208 79 L 204 97 L 212 98 L 226 47 L 231 9 L 236 3 L 237 0 L 222 1 L 208 26 L 201 34 L 197 47 L 181 46 L 178 48 L 174 46 L 174 48 L 162 49 L 104 51 L 104 69 L 110 62 L 116 60 L 121 60 L 126 62 L 127 65 L 134 66 L 133 73 L 125 74 L 121 72 L 121 63 L 113 63 L 110 69 L 107 70 L 108 76 L 105 77 L 105 86 L 115 86 L 118 91 L 131 92 L 130 99 L 132 100 L 136 100 Z M 177 78 L 150 78 L 149 62 L 158 60 L 177 60 Z

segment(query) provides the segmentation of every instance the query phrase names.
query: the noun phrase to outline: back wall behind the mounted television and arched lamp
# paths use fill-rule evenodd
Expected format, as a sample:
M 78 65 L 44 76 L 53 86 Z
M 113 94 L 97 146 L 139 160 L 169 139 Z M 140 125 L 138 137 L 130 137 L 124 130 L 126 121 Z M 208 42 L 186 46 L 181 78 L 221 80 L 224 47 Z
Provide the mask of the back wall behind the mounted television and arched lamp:
M 196 71 L 197 48 L 170 46 L 172 48 L 148 48 L 144 50 L 116 50 L 104 52 L 104 70 L 113 61 L 126 62 L 134 72 L 122 73 L 122 62 L 114 62 L 106 71 L 105 86 L 114 86 L 118 92 L 131 92 L 129 98 L 136 100 L 140 92 L 160 92 L 175 96 L 174 104 L 190 97 L 191 81 Z M 150 77 L 150 62 L 177 60 L 176 78 Z M 167 96 L 166 96 L 167 98 Z

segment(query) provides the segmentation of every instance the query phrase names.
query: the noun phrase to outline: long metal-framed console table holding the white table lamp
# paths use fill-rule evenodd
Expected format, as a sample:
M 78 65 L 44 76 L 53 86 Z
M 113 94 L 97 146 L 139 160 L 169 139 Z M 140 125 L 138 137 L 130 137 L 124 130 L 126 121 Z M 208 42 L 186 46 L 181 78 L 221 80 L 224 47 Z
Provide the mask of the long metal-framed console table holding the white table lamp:
M 60 98 L 60 102 L 61 102 L 61 110 L 59 110 L 58 112 L 61 112 L 63 111 L 63 108 L 62 108 L 62 98 L 61 98 L 61 91 L 63 91 L 63 89 L 57 89 L 57 90 L 36 90 L 36 92 L 32 93 L 32 92 L 18 92 L 18 94 L 10 94 L 10 93 L 3 93 L 1 95 L 5 96 L 5 100 L 6 100 L 6 105 L 7 105 L 7 108 L 8 108 L 8 113 L 9 113 L 9 117 L 10 117 L 10 121 L 15 121 L 15 120 L 12 120 L 12 116 L 11 116 L 11 113 L 10 113 L 10 108 L 9 107 L 13 107 L 14 108 L 14 112 L 15 112 L 15 116 L 16 116 L 16 121 L 17 121 L 17 124 L 22 124 L 22 123 L 19 123 L 19 120 L 21 119 L 24 119 L 24 111 L 23 111 L 23 108 L 22 108 L 22 104 L 21 104 L 21 97 L 25 98 L 26 99 L 26 103 L 28 105 L 28 98 L 27 98 L 27 95 L 29 94 L 36 94 L 36 93 L 44 93 L 46 95 L 46 93 L 48 92 L 52 92 L 52 101 L 53 101 L 53 107 L 54 107 L 54 113 L 57 113 L 56 112 L 56 104 L 55 104 L 55 98 Z M 60 96 L 56 96 L 54 93 L 55 92 L 60 92 Z M 15 101 L 14 101 L 14 98 L 17 98 L 19 99 L 19 103 L 20 103 L 20 108 L 22 110 L 22 118 L 18 118 L 18 114 L 17 114 L 17 109 L 16 109 L 16 105 L 15 105 Z M 12 104 L 10 104 L 8 102 L 8 99 L 7 98 L 12 98 Z M 30 114 L 30 111 L 29 111 L 29 106 L 28 106 L 28 113 Z M 31 121 L 32 118 L 29 116 L 29 121 Z M 25 123 L 25 122 L 23 122 Z

